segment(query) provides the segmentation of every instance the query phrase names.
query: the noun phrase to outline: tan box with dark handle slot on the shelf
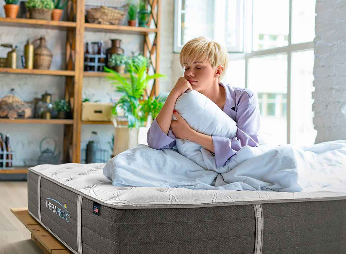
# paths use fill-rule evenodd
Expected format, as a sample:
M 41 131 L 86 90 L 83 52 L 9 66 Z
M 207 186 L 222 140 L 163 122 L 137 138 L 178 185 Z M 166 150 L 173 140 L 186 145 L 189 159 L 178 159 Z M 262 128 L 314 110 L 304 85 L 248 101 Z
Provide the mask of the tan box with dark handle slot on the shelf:
M 112 103 L 82 103 L 82 121 L 111 121 Z

